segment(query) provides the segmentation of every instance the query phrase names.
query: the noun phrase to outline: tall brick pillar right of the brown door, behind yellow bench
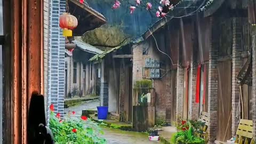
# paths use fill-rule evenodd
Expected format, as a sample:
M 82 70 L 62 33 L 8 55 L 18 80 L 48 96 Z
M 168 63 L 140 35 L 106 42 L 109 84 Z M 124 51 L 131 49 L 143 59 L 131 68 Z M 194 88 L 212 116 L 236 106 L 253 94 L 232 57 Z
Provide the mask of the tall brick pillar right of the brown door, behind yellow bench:
M 242 68 L 243 60 L 241 57 L 242 52 L 242 19 L 233 18 L 233 58 L 232 58 L 232 135 L 236 135 L 239 119 L 237 111 L 239 107 L 239 85 L 237 84 L 237 75 Z

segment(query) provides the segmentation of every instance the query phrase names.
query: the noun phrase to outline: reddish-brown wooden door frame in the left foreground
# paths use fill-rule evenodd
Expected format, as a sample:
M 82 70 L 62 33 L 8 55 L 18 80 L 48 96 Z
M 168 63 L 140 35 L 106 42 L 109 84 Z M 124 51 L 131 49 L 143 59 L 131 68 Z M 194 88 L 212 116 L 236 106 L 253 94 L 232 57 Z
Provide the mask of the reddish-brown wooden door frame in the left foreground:
M 44 94 L 43 2 L 3 1 L 4 143 L 28 143 L 30 98 Z

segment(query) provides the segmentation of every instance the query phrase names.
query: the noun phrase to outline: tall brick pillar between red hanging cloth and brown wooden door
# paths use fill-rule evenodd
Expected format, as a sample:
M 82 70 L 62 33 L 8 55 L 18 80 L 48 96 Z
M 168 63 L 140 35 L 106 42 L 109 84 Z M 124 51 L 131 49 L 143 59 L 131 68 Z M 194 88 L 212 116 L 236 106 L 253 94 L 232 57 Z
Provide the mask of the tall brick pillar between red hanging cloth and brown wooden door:
M 218 109 L 218 28 L 211 18 L 212 40 L 209 52 L 209 84 L 208 84 L 208 113 L 210 113 L 209 143 L 214 143 L 217 137 L 217 109 Z M 217 23 L 216 23 L 217 24 Z

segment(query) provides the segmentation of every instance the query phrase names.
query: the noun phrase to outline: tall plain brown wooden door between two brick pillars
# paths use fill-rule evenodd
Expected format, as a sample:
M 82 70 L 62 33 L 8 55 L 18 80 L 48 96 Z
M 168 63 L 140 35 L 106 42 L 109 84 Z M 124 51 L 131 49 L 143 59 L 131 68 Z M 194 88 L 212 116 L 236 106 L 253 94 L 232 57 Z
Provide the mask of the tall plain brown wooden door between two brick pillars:
M 231 61 L 218 63 L 218 141 L 226 141 L 231 138 L 231 118 L 229 119 L 231 113 L 231 67 Z

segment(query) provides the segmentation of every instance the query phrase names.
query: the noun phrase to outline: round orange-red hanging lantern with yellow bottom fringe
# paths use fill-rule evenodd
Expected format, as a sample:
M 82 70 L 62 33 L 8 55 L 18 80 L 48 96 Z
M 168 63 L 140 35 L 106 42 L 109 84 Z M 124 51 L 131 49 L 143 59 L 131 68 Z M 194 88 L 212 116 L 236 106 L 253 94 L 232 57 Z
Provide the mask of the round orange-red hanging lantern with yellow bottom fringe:
M 77 27 L 77 19 L 70 13 L 60 15 L 60 28 L 63 29 L 63 36 L 72 36 L 72 30 Z

